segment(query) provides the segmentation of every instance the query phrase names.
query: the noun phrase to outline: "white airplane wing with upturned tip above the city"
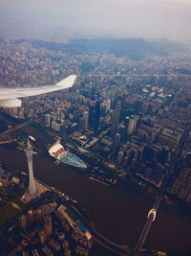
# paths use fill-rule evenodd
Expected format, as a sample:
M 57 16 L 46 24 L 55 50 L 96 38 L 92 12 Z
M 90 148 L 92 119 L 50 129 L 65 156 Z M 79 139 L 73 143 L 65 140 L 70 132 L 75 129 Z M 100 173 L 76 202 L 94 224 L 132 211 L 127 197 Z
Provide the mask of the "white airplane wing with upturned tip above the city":
M 58 91 L 73 86 L 76 76 L 71 75 L 68 78 L 59 81 L 54 85 L 43 85 L 32 88 L 2 88 L 0 87 L 0 106 L 15 107 L 21 106 L 19 98 L 31 97 L 48 92 Z

